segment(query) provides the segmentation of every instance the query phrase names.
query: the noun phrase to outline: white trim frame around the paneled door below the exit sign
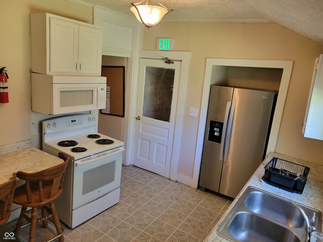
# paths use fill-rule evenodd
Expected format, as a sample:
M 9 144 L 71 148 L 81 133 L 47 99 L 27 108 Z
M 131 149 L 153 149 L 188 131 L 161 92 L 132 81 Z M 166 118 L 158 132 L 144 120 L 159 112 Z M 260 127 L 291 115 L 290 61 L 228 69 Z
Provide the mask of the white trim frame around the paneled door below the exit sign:
M 180 152 L 180 141 L 181 141 L 181 135 L 182 135 L 182 124 L 184 119 L 184 106 L 185 106 L 185 96 L 186 96 L 186 87 L 187 87 L 187 80 L 188 80 L 188 71 L 189 71 L 189 62 L 191 59 L 191 52 L 187 51 L 150 51 L 150 50 L 142 50 L 139 51 L 138 56 L 138 63 L 140 61 L 140 58 L 151 58 L 151 59 L 161 59 L 161 58 L 169 58 L 176 61 L 181 61 L 181 73 L 180 73 L 180 83 L 179 83 L 179 92 L 178 92 L 178 99 L 177 99 L 177 105 L 176 105 L 176 115 L 175 115 L 175 128 L 174 128 L 174 139 L 173 139 L 173 150 L 172 150 L 172 157 L 171 157 L 171 170 L 170 170 L 170 179 L 176 180 L 177 178 L 177 166 L 178 166 L 178 158 L 179 158 L 179 152 Z M 138 66 L 139 69 L 139 66 Z M 139 70 L 138 70 L 139 72 Z M 138 87 L 138 81 L 139 81 L 139 75 L 137 75 L 137 79 L 133 80 L 133 82 L 136 83 L 136 86 Z M 133 99 L 136 100 L 135 103 L 132 105 L 132 110 L 130 115 L 130 123 L 132 123 L 132 127 L 135 127 L 136 122 L 136 108 L 137 108 L 137 88 L 134 88 L 132 90 L 132 96 Z M 181 108 L 178 108 L 181 107 Z M 129 147 L 134 146 L 135 142 L 135 129 L 132 129 L 131 132 L 129 132 Z M 134 158 L 134 150 L 131 152 L 131 157 L 128 157 L 128 164 L 133 164 L 133 158 Z

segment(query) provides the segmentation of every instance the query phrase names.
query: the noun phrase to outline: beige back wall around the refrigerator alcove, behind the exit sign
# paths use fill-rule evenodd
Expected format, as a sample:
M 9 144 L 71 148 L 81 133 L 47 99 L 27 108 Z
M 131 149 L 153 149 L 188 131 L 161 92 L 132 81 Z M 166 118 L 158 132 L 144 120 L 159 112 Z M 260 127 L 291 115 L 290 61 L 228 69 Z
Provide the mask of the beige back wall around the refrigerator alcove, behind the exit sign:
M 206 58 L 294 61 L 276 151 L 323 164 L 323 141 L 301 134 L 315 58 L 323 44 L 276 24 L 160 23 L 144 31 L 143 49 L 156 50 L 157 38 L 173 38 L 175 51 L 191 51 L 178 173 L 192 176 Z M 167 56 L 167 52 L 165 52 Z M 187 132 L 189 131 L 189 132 Z

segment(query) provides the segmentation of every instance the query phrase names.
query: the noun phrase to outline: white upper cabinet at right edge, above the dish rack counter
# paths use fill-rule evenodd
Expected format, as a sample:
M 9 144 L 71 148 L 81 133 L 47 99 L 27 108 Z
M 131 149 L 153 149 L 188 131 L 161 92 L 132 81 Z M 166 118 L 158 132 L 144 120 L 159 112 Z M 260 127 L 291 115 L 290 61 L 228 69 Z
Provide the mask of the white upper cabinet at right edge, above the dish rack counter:
M 316 58 L 303 123 L 304 137 L 323 140 L 323 54 Z

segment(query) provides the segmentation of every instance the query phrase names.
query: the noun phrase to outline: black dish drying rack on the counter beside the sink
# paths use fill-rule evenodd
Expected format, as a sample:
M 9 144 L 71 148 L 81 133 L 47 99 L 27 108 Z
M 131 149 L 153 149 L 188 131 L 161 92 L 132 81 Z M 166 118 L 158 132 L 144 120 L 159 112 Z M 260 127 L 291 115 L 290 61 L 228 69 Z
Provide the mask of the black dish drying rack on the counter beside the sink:
M 288 192 L 302 194 L 309 167 L 274 157 L 264 167 L 265 183 Z

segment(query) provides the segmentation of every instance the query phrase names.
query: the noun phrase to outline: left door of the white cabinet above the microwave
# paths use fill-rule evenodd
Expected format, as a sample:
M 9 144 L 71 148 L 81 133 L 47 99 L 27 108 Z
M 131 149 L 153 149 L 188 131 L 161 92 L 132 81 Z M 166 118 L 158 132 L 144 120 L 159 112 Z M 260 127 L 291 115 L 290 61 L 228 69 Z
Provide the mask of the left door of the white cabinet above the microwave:
M 50 73 L 77 73 L 79 24 L 50 18 Z

